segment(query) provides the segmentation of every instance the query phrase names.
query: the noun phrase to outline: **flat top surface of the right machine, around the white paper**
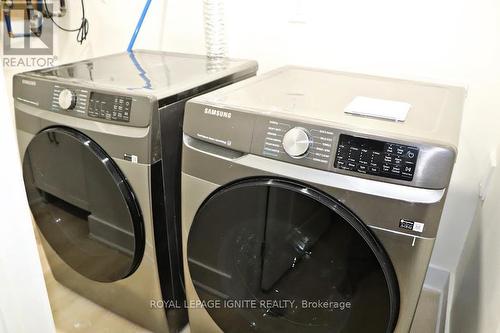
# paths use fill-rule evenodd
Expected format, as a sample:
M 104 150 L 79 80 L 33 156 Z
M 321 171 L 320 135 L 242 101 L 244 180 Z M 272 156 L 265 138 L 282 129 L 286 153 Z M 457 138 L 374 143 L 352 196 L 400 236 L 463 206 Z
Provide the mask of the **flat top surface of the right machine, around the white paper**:
M 465 95 L 458 86 L 287 66 L 192 101 L 456 147 Z M 402 122 L 345 113 L 358 96 L 411 107 Z

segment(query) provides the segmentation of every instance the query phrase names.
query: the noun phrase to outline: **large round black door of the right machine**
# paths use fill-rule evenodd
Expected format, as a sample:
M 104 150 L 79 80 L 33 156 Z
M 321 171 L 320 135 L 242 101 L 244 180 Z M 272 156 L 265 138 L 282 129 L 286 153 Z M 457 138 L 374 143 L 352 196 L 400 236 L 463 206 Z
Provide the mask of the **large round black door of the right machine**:
M 212 193 L 187 257 L 200 298 L 230 332 L 392 332 L 399 288 L 352 212 L 295 181 L 249 178 Z M 191 305 L 190 305 L 191 306 Z

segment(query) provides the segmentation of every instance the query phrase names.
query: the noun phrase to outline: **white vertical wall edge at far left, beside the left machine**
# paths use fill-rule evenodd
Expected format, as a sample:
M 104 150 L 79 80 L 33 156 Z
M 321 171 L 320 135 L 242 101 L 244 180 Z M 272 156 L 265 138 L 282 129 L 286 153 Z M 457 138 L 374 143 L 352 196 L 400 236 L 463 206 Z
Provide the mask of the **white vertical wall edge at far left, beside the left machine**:
M 0 74 L 3 70 L 0 68 Z M 4 81 L 0 80 L 0 332 L 54 332 L 26 201 Z

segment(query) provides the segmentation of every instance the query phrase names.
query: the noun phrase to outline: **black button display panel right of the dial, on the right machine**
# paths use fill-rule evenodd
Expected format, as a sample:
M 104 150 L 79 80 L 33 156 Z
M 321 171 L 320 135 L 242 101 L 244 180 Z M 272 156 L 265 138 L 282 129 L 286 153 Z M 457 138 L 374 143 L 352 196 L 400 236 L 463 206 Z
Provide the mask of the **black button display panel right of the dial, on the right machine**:
M 340 134 L 335 168 L 411 181 L 419 149 L 413 146 Z

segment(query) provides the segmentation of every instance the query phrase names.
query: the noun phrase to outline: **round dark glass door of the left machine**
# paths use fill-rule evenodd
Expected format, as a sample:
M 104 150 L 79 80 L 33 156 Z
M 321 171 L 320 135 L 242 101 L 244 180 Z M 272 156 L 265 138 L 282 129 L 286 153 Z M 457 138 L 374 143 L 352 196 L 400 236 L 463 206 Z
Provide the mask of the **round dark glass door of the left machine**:
M 132 274 L 144 252 L 144 224 L 126 178 L 86 135 L 51 127 L 23 160 L 28 202 L 44 238 L 78 273 L 99 282 Z

